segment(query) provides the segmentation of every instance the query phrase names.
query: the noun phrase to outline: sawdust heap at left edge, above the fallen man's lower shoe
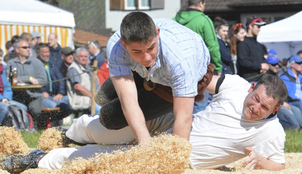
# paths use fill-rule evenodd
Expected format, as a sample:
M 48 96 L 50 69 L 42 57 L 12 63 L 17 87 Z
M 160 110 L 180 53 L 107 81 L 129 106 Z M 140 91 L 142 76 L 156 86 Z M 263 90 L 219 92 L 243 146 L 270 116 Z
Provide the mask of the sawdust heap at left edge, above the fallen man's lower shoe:
M 27 153 L 32 149 L 13 127 L 0 126 L 0 155 L 4 153 Z

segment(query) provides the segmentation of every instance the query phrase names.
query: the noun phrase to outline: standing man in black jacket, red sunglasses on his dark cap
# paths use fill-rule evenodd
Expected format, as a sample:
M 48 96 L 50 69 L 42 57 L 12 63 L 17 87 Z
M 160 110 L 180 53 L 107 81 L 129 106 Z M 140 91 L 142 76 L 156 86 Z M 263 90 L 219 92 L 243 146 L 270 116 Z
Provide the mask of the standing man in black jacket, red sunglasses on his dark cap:
M 237 46 L 237 74 L 251 83 L 258 81 L 261 78 L 259 74 L 269 69 L 262 46 L 257 42 L 260 27 L 265 24 L 266 22 L 256 16 L 247 19 L 246 37 Z

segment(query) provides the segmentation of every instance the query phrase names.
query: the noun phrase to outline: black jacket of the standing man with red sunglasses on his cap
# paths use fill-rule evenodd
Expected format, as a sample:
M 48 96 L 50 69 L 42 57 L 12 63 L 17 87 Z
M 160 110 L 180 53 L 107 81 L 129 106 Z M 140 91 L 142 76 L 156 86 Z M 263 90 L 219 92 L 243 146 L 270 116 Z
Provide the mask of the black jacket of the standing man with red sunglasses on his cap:
M 264 52 L 257 37 L 245 37 L 237 45 L 237 74 L 245 79 L 260 74 L 261 63 L 267 63 L 263 56 Z M 260 78 L 258 76 L 247 81 L 258 81 Z

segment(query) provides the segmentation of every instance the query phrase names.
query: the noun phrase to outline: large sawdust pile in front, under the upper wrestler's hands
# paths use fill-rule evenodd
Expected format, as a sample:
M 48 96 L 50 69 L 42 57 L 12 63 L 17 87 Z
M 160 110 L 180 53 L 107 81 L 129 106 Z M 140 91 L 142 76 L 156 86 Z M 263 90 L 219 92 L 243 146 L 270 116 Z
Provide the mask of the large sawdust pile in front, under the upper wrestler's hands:
M 126 152 L 77 159 L 63 166 L 63 173 L 182 173 L 188 166 L 191 145 L 172 135 L 150 138 Z

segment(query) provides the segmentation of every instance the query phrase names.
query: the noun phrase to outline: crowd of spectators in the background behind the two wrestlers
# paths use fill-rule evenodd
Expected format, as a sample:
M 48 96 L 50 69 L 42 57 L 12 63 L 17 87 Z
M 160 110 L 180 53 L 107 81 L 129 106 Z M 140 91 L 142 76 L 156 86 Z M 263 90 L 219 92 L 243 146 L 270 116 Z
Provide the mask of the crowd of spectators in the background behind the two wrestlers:
M 264 74 L 280 77 L 287 86 L 288 98 L 281 104 L 277 117 L 284 129 L 300 129 L 302 50 L 290 58 L 278 58 L 275 49 L 267 49 L 257 42 L 260 28 L 266 24 L 261 18 L 250 17 L 246 24 L 231 26 L 220 17 L 213 22 L 204 14 L 205 8 L 205 0 L 189 4 L 173 20 L 202 37 L 217 75 L 237 74 L 251 84 L 257 83 Z M 79 47 L 73 50 L 70 47 L 61 48 L 54 33 L 48 36 L 47 44 L 41 43 L 41 36 L 37 31 L 13 36 L 6 43 L 8 54 L 3 57 L 0 50 L 0 58 L 3 57 L 2 62 L 6 64 L 0 65 L 0 125 L 8 113 L 8 103 L 28 112 L 38 128 L 45 126 L 48 117 L 43 116 L 42 108 L 60 108 L 60 112 L 51 115 L 54 125 L 71 113 L 89 113 L 93 97 L 91 66 L 94 60 L 98 62 L 97 84 L 101 85 L 109 77 L 106 52 L 101 51 L 97 40 L 89 41 L 87 49 Z M 43 84 L 43 87 L 13 91 L 9 86 L 14 70 L 18 75 L 18 85 Z M 204 95 L 203 101 L 194 103 L 193 113 L 204 110 L 210 102 L 211 95 Z M 95 104 L 95 113 L 98 114 L 99 110 L 100 106 Z

